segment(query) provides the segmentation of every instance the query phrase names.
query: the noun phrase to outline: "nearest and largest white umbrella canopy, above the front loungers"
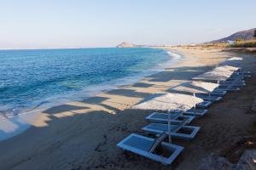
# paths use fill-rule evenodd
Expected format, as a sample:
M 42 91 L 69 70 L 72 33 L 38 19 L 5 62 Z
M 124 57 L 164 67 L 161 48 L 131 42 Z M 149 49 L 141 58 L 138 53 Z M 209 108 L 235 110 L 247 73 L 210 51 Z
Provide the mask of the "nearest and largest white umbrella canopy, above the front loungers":
M 153 94 L 132 108 L 140 110 L 188 111 L 203 101 L 203 99 L 187 94 Z

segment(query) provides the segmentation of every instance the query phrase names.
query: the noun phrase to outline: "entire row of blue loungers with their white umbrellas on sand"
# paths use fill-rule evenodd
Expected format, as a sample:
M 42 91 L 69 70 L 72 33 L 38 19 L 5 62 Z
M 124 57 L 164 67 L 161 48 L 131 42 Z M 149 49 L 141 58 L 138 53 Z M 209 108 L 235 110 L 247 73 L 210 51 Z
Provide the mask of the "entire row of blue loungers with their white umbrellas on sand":
M 204 116 L 207 107 L 220 101 L 227 92 L 238 92 L 246 85 L 250 72 L 241 71 L 241 58 L 230 58 L 212 71 L 207 71 L 191 82 L 169 89 L 170 93 L 154 94 L 134 109 L 154 111 L 145 119 L 149 124 L 143 132 L 154 138 L 131 133 L 117 146 L 163 164 L 171 164 L 183 146 L 172 144 L 172 138 L 192 140 L 201 127 L 189 126 L 196 117 Z

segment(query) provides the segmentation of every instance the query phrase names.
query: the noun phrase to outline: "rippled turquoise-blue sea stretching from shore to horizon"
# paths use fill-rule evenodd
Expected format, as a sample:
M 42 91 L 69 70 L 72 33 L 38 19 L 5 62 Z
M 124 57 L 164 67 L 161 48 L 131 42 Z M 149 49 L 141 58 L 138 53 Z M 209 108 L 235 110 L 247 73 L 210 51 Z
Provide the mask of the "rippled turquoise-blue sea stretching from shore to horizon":
M 88 98 L 163 69 L 166 51 L 83 48 L 0 51 L 0 116 Z

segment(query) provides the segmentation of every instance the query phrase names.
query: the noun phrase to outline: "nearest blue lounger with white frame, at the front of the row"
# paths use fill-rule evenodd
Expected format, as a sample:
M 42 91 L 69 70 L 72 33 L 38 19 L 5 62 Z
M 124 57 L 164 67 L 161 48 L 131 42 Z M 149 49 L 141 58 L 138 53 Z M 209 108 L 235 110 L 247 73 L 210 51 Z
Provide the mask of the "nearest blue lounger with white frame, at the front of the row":
M 154 149 L 157 145 L 160 145 L 163 150 L 168 151 L 170 155 L 160 156 L 155 153 Z M 151 160 L 159 161 L 165 165 L 171 164 L 172 161 L 174 161 L 183 150 L 182 146 L 162 142 L 160 140 L 156 141 L 156 139 L 144 137 L 136 133 L 132 133 L 127 138 L 120 141 L 117 146 L 123 150 L 129 150 L 137 155 L 145 156 Z

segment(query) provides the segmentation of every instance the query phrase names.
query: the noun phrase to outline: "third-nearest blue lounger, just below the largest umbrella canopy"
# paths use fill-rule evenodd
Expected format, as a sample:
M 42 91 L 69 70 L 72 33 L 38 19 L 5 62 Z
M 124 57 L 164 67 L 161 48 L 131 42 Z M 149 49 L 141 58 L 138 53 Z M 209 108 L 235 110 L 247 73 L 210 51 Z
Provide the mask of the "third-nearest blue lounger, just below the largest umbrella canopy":
M 183 121 L 186 123 L 190 123 L 194 120 L 195 116 L 185 116 L 182 115 L 180 112 L 170 112 L 171 114 L 171 124 L 177 124 Z M 177 116 L 178 115 L 178 116 Z M 160 112 L 153 112 L 149 116 L 146 117 L 146 120 L 150 122 L 168 122 L 169 113 L 160 113 Z

